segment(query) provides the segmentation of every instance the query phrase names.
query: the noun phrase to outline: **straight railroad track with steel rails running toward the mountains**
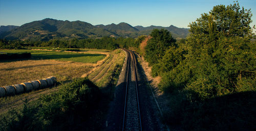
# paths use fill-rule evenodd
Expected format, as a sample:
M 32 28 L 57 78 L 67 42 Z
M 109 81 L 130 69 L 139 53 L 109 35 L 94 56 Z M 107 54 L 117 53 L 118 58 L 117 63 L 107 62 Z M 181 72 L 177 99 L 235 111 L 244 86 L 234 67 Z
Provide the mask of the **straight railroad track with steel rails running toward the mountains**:
M 126 49 L 124 51 L 127 53 L 127 68 L 122 130 L 142 130 L 136 70 L 137 63 L 132 51 Z

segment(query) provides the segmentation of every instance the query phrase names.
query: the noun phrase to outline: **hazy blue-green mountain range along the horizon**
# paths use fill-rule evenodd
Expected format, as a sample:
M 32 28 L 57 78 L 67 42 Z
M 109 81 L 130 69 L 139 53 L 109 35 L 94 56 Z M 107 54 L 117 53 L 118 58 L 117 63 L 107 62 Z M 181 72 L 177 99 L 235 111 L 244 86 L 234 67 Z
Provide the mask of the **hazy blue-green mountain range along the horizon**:
M 137 37 L 149 35 L 153 29 L 167 29 L 172 32 L 173 37 L 185 38 L 188 29 L 178 28 L 173 25 L 169 27 L 150 26 L 133 27 L 127 23 L 96 25 L 83 21 L 68 21 L 46 18 L 18 26 L 1 26 L 0 38 L 6 39 L 30 39 L 49 40 L 52 38 L 98 38 L 98 37 Z

